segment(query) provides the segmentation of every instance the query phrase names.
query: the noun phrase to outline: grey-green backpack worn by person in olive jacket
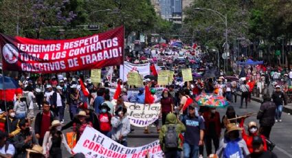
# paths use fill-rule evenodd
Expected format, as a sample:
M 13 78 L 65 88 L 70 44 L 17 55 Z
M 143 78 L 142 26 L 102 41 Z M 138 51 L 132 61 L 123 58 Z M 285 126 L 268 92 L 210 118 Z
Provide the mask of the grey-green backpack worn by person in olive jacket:
M 175 126 L 166 126 L 167 131 L 166 135 L 164 137 L 165 141 L 165 147 L 166 148 L 177 148 L 179 137 L 177 136 L 177 131 L 175 130 L 177 128 L 177 125 Z

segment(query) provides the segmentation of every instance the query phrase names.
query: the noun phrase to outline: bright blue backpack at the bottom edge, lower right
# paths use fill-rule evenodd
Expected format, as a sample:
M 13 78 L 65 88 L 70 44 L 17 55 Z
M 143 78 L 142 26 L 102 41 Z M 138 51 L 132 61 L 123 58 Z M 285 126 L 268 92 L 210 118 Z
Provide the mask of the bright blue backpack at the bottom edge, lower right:
M 224 158 L 243 158 L 241 155 L 241 150 L 239 148 L 238 142 L 240 139 L 236 139 L 235 141 L 230 141 L 227 143 L 227 146 L 224 150 Z

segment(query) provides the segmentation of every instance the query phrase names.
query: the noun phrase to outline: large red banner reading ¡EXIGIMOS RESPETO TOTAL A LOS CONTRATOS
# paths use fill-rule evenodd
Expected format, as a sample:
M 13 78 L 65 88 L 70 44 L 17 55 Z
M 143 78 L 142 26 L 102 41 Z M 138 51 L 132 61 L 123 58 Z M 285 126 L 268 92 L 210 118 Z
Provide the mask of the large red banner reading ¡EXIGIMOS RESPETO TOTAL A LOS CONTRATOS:
M 56 73 L 123 64 L 124 27 L 68 40 L 0 34 L 3 70 Z

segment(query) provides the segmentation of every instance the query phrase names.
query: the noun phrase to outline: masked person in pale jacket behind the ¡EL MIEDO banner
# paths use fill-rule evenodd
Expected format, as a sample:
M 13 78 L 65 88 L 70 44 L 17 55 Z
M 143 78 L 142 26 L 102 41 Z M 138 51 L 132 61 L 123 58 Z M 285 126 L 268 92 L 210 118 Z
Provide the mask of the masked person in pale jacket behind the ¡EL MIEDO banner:
M 111 126 L 111 139 L 123 146 L 128 146 L 127 135 L 131 132 L 131 124 L 126 117 L 126 108 L 120 106 L 115 111 L 115 116 L 111 117 Z

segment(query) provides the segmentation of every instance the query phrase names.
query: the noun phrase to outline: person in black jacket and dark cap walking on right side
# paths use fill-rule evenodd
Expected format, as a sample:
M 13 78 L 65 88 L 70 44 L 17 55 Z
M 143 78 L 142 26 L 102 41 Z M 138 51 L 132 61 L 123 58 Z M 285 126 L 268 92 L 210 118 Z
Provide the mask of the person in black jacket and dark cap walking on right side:
M 260 120 L 260 134 L 269 139 L 271 128 L 275 124 L 276 104 L 271 102 L 268 94 L 265 94 L 262 98 L 264 102 L 260 105 L 260 111 L 258 111 L 256 119 Z

